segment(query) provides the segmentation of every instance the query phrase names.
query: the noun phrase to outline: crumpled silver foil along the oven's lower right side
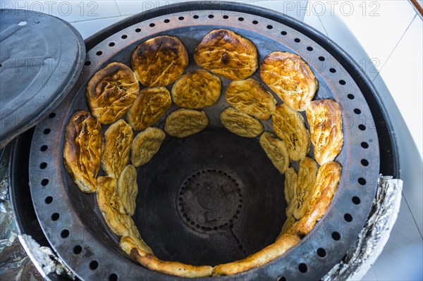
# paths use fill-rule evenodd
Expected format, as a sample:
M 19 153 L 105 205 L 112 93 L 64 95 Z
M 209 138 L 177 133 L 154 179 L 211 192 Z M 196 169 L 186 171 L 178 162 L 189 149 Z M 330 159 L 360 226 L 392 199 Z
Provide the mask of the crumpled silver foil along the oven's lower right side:
M 361 280 L 364 277 L 388 242 L 400 211 L 402 192 L 402 180 L 380 175 L 372 210 L 355 245 L 350 248 L 343 261 L 322 278 L 323 281 Z

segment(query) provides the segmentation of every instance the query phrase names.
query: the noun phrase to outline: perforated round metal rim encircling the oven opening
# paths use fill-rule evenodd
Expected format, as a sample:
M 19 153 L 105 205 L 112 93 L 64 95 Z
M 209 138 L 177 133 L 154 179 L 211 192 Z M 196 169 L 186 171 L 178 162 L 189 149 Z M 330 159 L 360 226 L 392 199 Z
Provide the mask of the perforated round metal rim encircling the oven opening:
M 382 163 L 379 149 L 385 152 L 384 146 L 395 146 L 395 143 L 389 130 L 385 130 L 389 122 L 384 118 L 384 111 L 377 107 L 380 104 L 376 92 L 348 55 L 319 33 L 278 13 L 222 2 L 207 5 L 190 2 L 135 15 L 90 39 L 95 44 L 88 46 L 85 75 L 54 114 L 37 126 L 33 136 L 29 170 L 37 175 L 30 180 L 35 213 L 51 246 L 81 279 L 181 279 L 146 270 L 125 258 L 114 248 L 114 241 L 103 239 L 107 230 L 101 229 L 101 225 L 97 230 L 87 225 L 86 218 L 80 216 L 75 202 L 70 199 L 71 188 L 68 188 L 69 179 L 63 168 L 61 147 L 68 118 L 73 111 L 86 107 L 84 102 L 78 101 L 83 96 L 82 89 L 92 73 L 109 61 L 128 63 L 128 49 L 134 49 L 144 39 L 168 32 L 192 32 L 200 38 L 206 30 L 216 27 L 230 28 L 253 38 L 259 49 L 271 42 L 276 45 L 271 44 L 270 48 L 290 50 L 309 58 L 323 86 L 318 98 L 335 97 L 343 107 L 343 117 L 350 118 L 350 123 L 345 124 L 348 126 L 344 127 L 346 145 L 338 159 L 345 168 L 343 182 L 324 219 L 288 254 L 246 273 L 214 280 L 319 279 L 341 260 L 355 241 L 355 233 L 362 228 L 376 191 L 373 177 L 379 173 L 398 173 L 396 158 L 390 155 L 384 156 L 389 159 L 388 165 L 379 168 Z M 193 42 L 195 40 L 198 39 Z M 262 58 L 261 55 L 260 61 Z M 369 104 L 376 104 L 372 109 L 386 125 L 385 129 L 377 129 Z M 381 124 L 378 126 L 384 128 Z M 379 132 L 379 137 L 388 132 L 391 142 L 379 142 Z M 390 151 L 396 152 L 395 149 Z M 352 221 L 344 219 L 346 213 L 353 216 Z M 318 249 L 324 249 L 326 255 L 321 256 L 322 251 Z

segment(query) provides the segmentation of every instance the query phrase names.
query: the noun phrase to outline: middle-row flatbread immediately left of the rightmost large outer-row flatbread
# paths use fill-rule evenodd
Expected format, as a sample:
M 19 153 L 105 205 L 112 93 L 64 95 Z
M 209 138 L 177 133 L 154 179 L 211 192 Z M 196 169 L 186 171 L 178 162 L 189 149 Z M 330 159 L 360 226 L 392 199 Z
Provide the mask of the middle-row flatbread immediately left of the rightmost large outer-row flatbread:
M 310 139 L 302 115 L 286 104 L 281 104 L 276 106 L 271 115 L 271 121 L 276 135 L 285 142 L 288 148 L 289 158 L 292 161 L 300 161 L 304 158 L 310 149 Z

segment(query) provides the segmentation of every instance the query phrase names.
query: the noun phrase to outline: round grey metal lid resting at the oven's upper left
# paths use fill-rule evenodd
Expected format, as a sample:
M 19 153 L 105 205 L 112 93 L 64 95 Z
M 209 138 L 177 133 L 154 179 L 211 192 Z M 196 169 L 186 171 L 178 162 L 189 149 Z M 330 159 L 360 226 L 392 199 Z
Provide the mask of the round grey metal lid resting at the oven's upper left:
M 0 148 L 37 124 L 78 79 L 85 44 L 60 18 L 0 10 Z

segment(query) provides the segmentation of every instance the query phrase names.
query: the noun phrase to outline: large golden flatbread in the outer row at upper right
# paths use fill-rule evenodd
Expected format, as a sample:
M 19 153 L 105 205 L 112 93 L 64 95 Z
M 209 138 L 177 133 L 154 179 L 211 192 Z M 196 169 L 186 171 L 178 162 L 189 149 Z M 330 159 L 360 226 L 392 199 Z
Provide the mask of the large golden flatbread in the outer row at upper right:
M 305 111 L 317 91 L 317 79 L 300 56 L 274 51 L 264 58 L 260 77 L 295 111 Z

